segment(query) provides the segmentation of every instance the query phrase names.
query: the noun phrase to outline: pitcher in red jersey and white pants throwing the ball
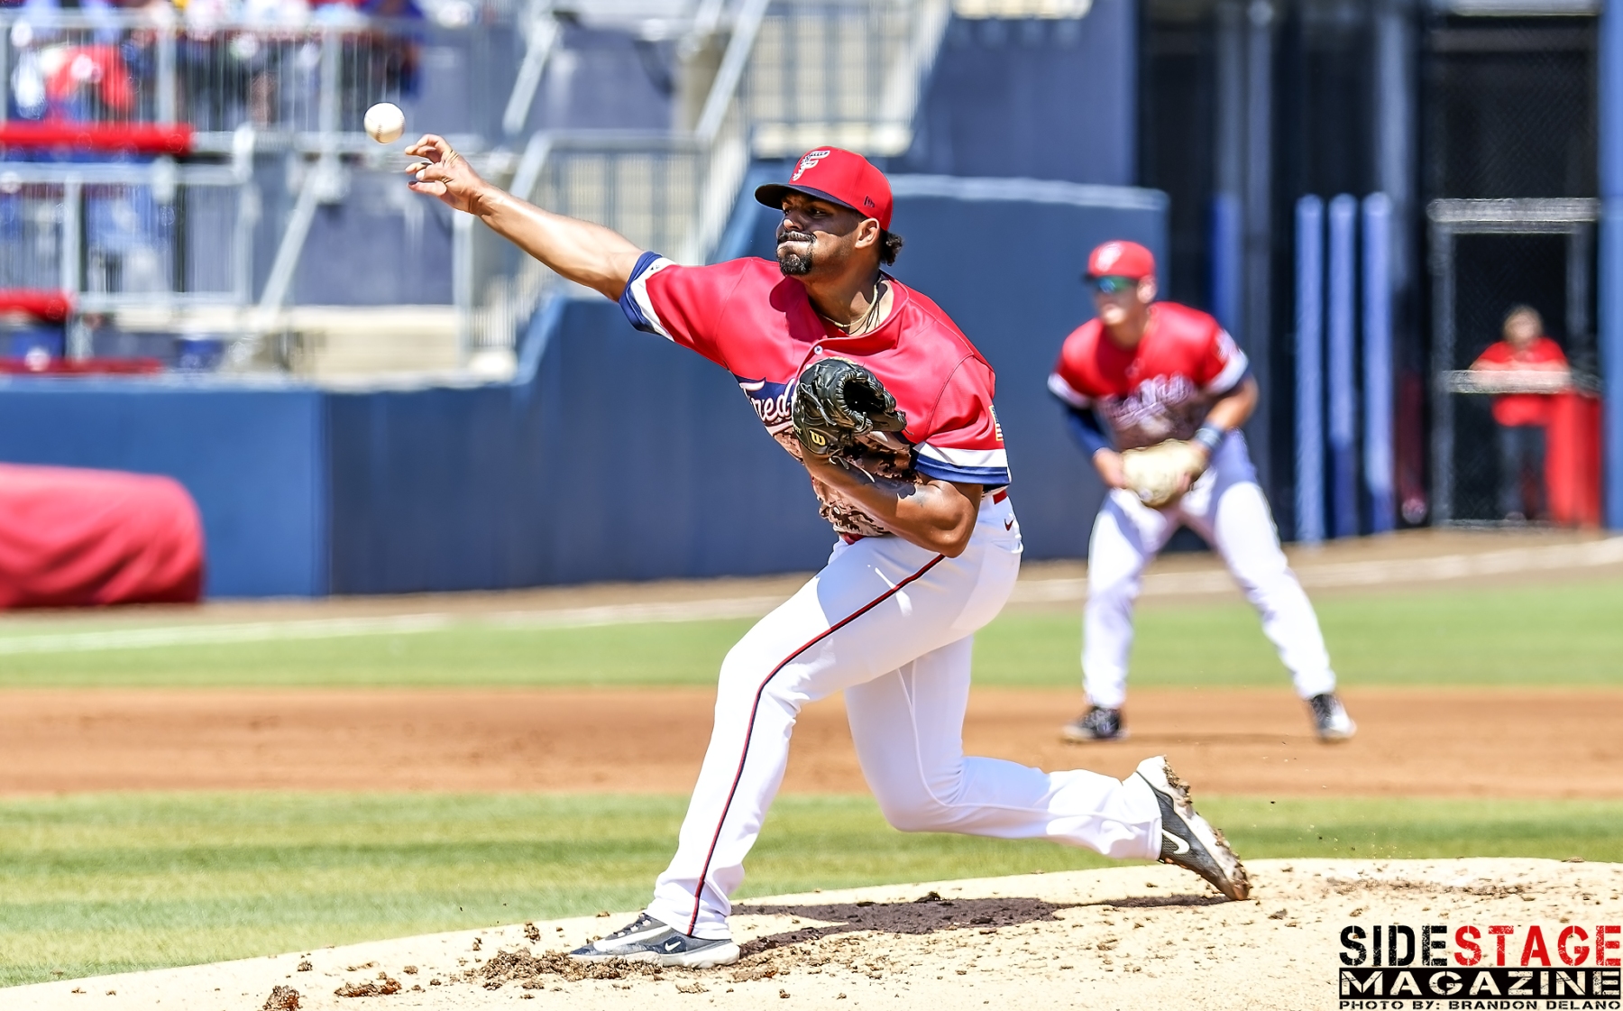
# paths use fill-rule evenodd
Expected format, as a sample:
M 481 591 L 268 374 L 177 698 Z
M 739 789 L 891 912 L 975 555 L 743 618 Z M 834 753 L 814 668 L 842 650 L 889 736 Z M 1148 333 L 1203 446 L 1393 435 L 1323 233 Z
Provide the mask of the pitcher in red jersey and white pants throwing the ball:
M 974 633 L 1014 587 L 1021 536 L 992 367 L 938 305 L 885 271 L 902 245 L 885 174 L 850 151 L 808 151 L 786 183 L 755 191 L 782 213 L 776 261 L 682 266 L 503 193 L 441 138 L 406 153 L 427 159 L 411 169 L 414 190 L 477 214 L 563 277 L 618 300 L 638 329 L 732 373 L 839 536 L 828 565 L 722 662 L 709 748 L 652 902 L 571 957 L 737 961 L 729 896 L 782 782 L 800 708 L 836 691 L 862 772 L 902 831 L 1160 858 L 1232 899 L 1248 894 L 1238 857 L 1190 807 L 1164 756 L 1125 781 L 964 756 Z M 901 433 L 870 433 L 850 458 L 802 453 L 795 385 L 829 357 L 878 376 L 906 415 Z M 626 475 L 626 495 L 651 493 L 636 477 Z

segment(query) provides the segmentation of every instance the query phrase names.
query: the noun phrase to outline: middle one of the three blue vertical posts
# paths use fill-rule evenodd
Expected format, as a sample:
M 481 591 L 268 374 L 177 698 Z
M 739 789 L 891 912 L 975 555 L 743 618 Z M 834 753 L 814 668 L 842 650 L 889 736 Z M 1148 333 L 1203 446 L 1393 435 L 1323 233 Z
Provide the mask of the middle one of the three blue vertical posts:
M 1329 201 L 1329 313 L 1326 378 L 1329 380 L 1331 532 L 1358 534 L 1357 402 L 1354 396 L 1354 258 L 1358 201 L 1342 193 Z

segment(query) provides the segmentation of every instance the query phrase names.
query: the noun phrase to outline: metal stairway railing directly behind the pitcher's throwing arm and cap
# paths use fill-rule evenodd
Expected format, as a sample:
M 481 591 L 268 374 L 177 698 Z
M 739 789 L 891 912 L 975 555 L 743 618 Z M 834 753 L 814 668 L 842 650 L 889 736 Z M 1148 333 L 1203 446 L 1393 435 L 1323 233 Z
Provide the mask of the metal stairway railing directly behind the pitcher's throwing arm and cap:
M 751 159 L 818 143 L 870 156 L 909 148 L 951 10 L 949 0 L 743 0 L 691 130 L 539 133 L 513 190 L 678 263 L 704 263 Z M 471 281 L 476 349 L 511 347 L 540 302 L 565 290 L 540 265 L 498 250 L 469 260 L 482 268 Z

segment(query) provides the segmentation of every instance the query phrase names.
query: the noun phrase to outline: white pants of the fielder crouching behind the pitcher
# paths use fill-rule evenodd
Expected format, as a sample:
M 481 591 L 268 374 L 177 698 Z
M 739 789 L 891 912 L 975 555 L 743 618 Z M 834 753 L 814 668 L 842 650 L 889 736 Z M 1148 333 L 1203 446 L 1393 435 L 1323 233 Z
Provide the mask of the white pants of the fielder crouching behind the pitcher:
M 1170 510 L 1152 510 L 1120 488 L 1105 497 L 1087 547 L 1087 607 L 1083 612 L 1083 686 L 1087 701 L 1118 709 L 1126 701 L 1126 662 L 1133 649 L 1133 604 L 1149 560 L 1188 526 L 1222 557 L 1245 599 L 1263 617 L 1263 635 L 1279 651 L 1297 695 L 1336 690 L 1336 673 L 1318 617 L 1279 549 L 1245 437 L 1233 432 L 1211 467 Z

